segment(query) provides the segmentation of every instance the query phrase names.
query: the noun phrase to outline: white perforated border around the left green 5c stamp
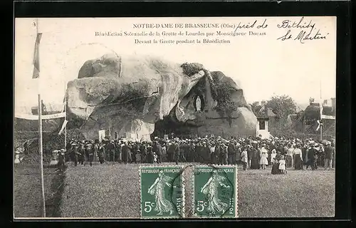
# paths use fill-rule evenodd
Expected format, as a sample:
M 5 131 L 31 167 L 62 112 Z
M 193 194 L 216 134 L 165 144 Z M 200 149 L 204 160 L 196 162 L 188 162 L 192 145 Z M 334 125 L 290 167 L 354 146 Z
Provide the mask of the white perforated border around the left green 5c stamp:
M 154 167 L 181 167 L 182 168 L 182 174 L 181 174 L 181 180 L 182 180 L 182 212 L 181 212 L 181 215 L 182 217 L 143 217 L 142 216 L 142 188 L 141 188 L 141 185 L 142 185 L 142 175 L 141 175 L 141 169 L 142 168 L 154 168 Z M 140 219 L 181 219 L 181 218 L 185 218 L 185 178 L 184 178 L 184 171 L 185 171 L 185 166 L 184 165 L 140 165 L 139 169 L 138 169 L 138 173 L 139 173 L 139 176 L 140 176 Z

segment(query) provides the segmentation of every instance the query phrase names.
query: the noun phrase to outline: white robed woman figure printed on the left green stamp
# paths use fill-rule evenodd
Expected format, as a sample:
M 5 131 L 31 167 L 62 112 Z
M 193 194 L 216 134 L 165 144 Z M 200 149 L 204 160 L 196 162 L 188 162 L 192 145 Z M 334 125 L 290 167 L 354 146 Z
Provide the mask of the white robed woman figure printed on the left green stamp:
M 173 213 L 172 202 L 164 198 L 164 187 L 172 187 L 172 180 L 172 177 L 164 175 L 164 172 L 161 170 L 153 185 L 148 189 L 148 193 L 155 196 L 155 212 L 158 212 L 157 215 L 162 215 L 163 212 Z

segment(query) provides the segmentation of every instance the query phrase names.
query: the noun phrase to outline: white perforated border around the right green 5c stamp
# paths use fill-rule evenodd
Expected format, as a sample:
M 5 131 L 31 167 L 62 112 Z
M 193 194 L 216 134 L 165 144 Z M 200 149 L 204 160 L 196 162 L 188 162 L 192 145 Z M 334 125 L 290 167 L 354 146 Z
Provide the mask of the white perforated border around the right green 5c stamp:
M 199 167 L 212 167 L 212 168 L 214 168 L 214 167 L 216 167 L 217 169 L 219 169 L 219 167 L 226 167 L 226 168 L 234 168 L 235 169 L 235 174 L 234 174 L 234 177 L 235 177 L 235 180 L 236 180 L 236 182 L 235 182 L 235 195 L 234 195 L 234 197 L 235 197 L 235 214 L 234 214 L 234 217 L 219 217 L 219 216 L 217 216 L 217 217 L 212 217 L 212 216 L 197 216 L 197 215 L 194 215 L 194 213 L 195 213 L 195 175 L 194 175 L 194 169 L 195 168 L 199 168 Z M 232 218 L 238 218 L 239 217 L 239 212 L 238 212 L 238 209 L 239 209 L 239 205 L 238 205 L 238 203 L 239 203 L 239 200 L 238 200 L 238 197 L 239 197 L 239 194 L 238 194 L 238 191 L 239 191 L 239 180 L 238 180 L 238 178 L 237 178 L 237 171 L 238 171 L 238 168 L 237 168 L 237 165 L 194 165 L 193 166 L 193 172 L 192 172 L 192 174 L 193 174 L 193 177 L 192 177 L 192 180 L 191 180 L 191 182 L 192 182 L 192 189 L 191 189 L 191 191 L 192 191 L 192 210 L 193 210 L 193 216 L 192 216 L 192 218 L 194 218 L 194 219 L 232 219 Z

